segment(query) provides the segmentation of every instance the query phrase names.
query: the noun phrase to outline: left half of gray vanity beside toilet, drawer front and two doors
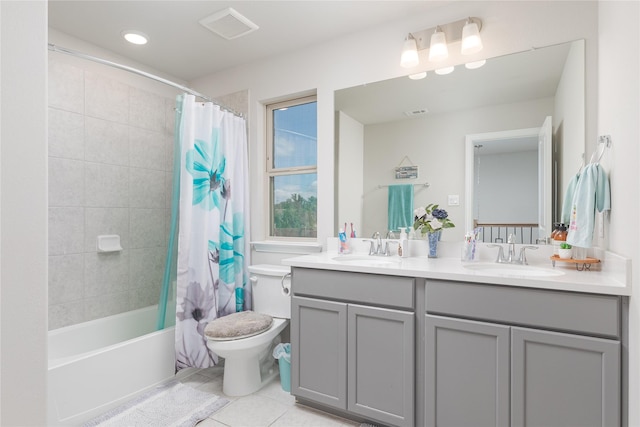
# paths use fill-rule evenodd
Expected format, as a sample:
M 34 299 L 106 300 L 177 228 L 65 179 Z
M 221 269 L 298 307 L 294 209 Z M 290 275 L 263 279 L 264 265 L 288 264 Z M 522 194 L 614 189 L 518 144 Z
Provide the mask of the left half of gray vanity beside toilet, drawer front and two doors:
M 414 279 L 294 268 L 292 290 L 291 393 L 413 426 Z

